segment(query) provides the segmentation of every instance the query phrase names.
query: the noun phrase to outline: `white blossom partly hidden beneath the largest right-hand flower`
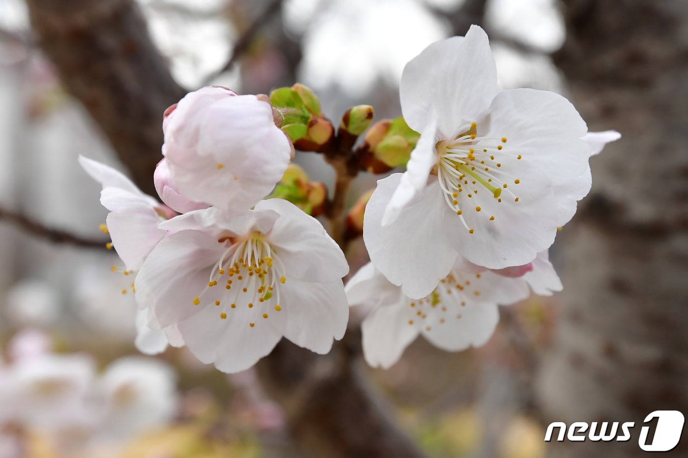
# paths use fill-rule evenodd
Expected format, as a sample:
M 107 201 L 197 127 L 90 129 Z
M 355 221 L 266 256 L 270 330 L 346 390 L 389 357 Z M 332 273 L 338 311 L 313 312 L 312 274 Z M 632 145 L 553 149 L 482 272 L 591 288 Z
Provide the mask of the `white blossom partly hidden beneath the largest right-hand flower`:
M 499 322 L 497 305 L 561 290 L 561 282 L 547 259 L 539 255 L 533 269 L 519 278 L 484 268 L 464 270 L 460 262 L 428 296 L 412 299 L 368 263 L 346 285 L 350 305 L 371 307 L 361 329 L 363 356 L 372 367 L 387 369 L 397 362 L 418 335 L 447 351 L 484 345 Z M 481 270 L 481 272 L 475 272 Z

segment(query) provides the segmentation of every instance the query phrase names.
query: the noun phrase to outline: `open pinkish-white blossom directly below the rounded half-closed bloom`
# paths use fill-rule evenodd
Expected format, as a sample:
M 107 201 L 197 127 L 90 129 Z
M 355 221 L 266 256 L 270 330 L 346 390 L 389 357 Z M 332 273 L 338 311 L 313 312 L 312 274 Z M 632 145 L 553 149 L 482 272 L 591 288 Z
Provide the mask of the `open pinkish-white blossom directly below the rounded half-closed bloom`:
M 323 226 L 288 201 L 259 201 L 234 217 L 195 210 L 160 227 L 175 232 L 138 272 L 136 298 L 160 326 L 177 325 L 201 362 L 233 373 L 282 336 L 316 353 L 343 336 L 346 259 Z

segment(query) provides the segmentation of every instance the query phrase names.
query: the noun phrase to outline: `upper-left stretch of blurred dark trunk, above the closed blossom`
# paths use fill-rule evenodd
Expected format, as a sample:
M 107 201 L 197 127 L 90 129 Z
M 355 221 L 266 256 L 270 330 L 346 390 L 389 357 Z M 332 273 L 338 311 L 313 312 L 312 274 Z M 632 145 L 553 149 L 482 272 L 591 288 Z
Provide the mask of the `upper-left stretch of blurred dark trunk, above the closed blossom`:
M 185 94 L 131 0 L 27 0 L 39 45 L 107 135 L 144 192 L 155 195 L 162 112 Z

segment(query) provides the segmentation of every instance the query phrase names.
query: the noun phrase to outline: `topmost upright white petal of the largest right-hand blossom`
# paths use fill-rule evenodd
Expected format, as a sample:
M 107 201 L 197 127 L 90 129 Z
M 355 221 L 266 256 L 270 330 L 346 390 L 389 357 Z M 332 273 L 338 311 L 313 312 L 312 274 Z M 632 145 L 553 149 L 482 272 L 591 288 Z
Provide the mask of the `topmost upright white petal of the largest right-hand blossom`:
M 422 131 L 435 109 L 445 137 L 475 121 L 497 94 L 497 68 L 487 35 L 477 25 L 465 37 L 429 45 L 407 63 L 399 87 L 402 113 Z

